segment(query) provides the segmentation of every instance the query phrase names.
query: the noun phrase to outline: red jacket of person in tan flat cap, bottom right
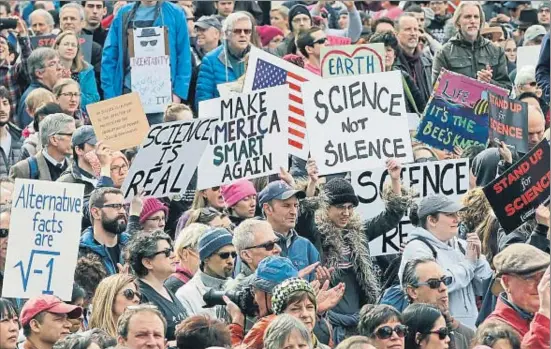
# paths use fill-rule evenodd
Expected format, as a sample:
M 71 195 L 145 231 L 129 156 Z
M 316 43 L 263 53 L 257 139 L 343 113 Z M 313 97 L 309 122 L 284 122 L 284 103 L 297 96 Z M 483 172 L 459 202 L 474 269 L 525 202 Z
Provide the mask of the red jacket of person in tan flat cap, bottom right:
M 536 313 L 532 321 L 524 319 L 499 297 L 494 312 L 486 318 L 486 321 L 499 321 L 513 327 L 522 338 L 522 348 L 549 348 L 550 321 L 545 315 Z

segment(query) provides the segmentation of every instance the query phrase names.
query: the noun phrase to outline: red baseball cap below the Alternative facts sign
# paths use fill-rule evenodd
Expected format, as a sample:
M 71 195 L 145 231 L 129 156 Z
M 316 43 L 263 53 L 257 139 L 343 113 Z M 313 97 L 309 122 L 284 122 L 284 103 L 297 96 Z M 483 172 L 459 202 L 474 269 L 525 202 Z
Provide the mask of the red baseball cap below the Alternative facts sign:
M 67 314 L 69 319 L 78 319 L 82 315 L 82 308 L 67 304 L 52 295 L 42 295 L 31 298 L 21 309 L 21 325 L 27 325 L 36 315 L 47 311 L 54 314 Z

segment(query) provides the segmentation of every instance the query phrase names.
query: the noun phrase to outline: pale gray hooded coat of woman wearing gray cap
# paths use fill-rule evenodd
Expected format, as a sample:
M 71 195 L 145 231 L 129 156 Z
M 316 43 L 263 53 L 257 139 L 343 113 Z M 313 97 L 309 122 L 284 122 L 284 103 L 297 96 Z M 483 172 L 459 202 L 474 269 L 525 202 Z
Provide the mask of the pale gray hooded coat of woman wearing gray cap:
M 462 324 L 475 328 L 478 309 L 475 296 L 484 295 L 485 284 L 492 278 L 493 272 L 484 255 L 480 255 L 477 261 L 470 261 L 465 257 L 459 244 L 466 250 L 467 243 L 457 238 L 448 243 L 438 240 L 429 231 L 417 227 L 409 233 L 408 240 L 422 237 L 428 240 L 436 249 L 436 262 L 442 267 L 447 276 L 452 277 L 452 283 L 448 286 L 450 299 L 450 313 Z M 431 249 L 422 241 L 411 241 L 406 245 L 402 254 L 398 276 L 400 282 L 406 263 L 415 258 L 433 258 Z

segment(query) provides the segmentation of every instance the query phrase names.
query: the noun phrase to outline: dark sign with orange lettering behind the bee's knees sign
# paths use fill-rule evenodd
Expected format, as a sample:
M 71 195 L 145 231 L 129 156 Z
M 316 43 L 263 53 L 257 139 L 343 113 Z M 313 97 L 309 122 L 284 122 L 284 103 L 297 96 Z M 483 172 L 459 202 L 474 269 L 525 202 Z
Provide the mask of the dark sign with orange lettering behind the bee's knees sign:
M 489 137 L 512 145 L 519 153 L 528 148 L 528 104 L 488 93 Z

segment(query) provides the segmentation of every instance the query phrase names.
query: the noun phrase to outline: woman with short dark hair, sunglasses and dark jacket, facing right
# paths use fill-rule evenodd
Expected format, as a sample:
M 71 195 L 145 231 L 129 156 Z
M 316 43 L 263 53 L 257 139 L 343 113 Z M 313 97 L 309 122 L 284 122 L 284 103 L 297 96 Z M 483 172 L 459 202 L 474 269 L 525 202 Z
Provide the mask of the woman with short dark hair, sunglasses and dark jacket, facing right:
M 165 285 L 166 279 L 176 270 L 172 241 L 161 230 L 134 237 L 128 244 L 129 264 L 138 276 L 142 303 L 155 305 L 167 321 L 166 339 L 176 339 L 175 330 L 188 317 L 174 293 Z

